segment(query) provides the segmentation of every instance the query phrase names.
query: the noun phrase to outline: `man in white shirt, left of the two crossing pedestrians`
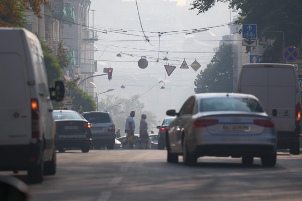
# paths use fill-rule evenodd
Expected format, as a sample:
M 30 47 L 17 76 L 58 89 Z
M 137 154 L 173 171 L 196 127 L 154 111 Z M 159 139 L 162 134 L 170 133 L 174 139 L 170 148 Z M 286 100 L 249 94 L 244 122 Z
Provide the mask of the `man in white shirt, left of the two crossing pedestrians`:
M 130 115 L 126 119 L 125 124 L 125 132 L 126 135 L 126 141 L 123 144 L 125 146 L 126 144 L 129 144 L 129 149 L 133 149 L 133 144 L 136 143 L 136 140 L 134 138 L 134 129 L 135 129 L 135 122 L 133 117 L 135 116 L 135 111 L 131 111 Z

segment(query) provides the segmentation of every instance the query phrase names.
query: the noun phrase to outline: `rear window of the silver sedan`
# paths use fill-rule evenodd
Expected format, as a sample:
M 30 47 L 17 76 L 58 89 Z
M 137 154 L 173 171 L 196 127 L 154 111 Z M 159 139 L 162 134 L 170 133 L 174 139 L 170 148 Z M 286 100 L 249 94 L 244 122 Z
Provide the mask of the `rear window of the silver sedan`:
M 200 111 L 264 112 L 257 100 L 245 97 L 219 97 L 202 99 L 200 101 Z

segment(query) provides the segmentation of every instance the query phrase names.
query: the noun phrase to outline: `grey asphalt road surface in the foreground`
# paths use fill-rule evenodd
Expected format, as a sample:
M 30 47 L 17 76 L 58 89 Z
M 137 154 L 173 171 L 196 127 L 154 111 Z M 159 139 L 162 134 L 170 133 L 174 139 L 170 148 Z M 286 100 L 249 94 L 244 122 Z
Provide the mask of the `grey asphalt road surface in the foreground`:
M 31 201 L 302 200 L 302 155 L 278 153 L 277 165 L 203 157 L 194 167 L 166 162 L 165 150 L 57 153 L 57 174 L 29 184 Z M 9 172 L 9 174 L 12 174 Z M 26 182 L 26 172 L 18 178 Z

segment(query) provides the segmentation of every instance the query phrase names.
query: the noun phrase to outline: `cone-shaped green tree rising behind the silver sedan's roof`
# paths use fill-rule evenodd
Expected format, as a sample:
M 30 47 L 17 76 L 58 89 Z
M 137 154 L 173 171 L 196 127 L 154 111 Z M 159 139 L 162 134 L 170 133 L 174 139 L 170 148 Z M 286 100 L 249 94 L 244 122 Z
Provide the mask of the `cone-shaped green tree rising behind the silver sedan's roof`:
M 233 46 L 222 44 L 194 82 L 195 93 L 233 91 Z

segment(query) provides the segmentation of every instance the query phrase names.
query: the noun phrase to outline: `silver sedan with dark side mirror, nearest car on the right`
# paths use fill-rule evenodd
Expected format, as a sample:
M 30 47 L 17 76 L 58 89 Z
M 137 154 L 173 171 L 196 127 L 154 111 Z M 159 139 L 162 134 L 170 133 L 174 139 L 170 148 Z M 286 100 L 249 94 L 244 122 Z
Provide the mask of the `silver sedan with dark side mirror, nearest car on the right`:
M 244 165 L 261 158 L 275 166 L 277 134 L 274 122 L 254 95 L 200 93 L 189 97 L 166 130 L 167 161 L 195 165 L 202 156 L 242 158 Z

